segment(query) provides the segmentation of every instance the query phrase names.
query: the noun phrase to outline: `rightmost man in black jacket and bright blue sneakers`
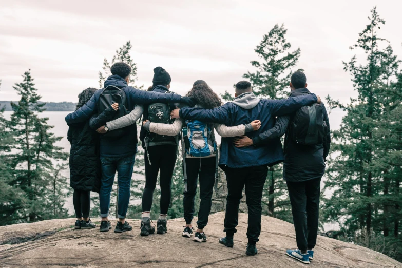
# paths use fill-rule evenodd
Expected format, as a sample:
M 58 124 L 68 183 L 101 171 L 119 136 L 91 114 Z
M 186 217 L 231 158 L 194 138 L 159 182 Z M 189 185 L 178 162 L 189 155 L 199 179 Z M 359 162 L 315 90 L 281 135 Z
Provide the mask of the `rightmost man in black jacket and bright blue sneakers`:
M 306 77 L 297 71 L 291 77 L 289 97 L 311 94 L 307 89 Z M 303 145 L 293 141 L 288 131 L 293 114 L 278 117 L 275 126 L 252 139 L 244 136 L 235 139 L 236 147 L 265 146 L 285 134 L 283 179 L 289 190 L 293 222 L 298 250 L 288 250 L 286 254 L 304 263 L 313 259 L 313 248 L 317 241 L 318 208 L 321 177 L 325 171 L 325 161 L 331 145 L 331 131 L 327 110 L 323 103 L 323 120 L 327 124 L 326 136 L 322 144 Z

